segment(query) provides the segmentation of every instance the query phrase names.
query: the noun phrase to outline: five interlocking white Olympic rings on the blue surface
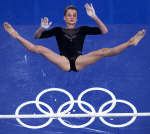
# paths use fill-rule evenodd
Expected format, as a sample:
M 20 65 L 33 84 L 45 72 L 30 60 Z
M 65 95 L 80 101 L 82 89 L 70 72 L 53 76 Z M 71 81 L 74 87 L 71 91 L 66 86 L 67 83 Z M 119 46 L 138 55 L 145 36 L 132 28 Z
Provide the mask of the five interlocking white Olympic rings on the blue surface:
M 45 93 L 53 92 L 53 91 L 64 93 L 64 94 L 67 95 L 67 96 L 69 97 L 69 99 L 70 99 L 70 101 L 65 102 L 64 104 L 62 104 L 62 105 L 58 108 L 57 113 L 54 113 L 54 112 L 53 112 L 53 109 L 52 109 L 48 104 L 46 104 L 46 103 L 40 101 L 41 96 L 43 96 Z M 104 113 L 107 114 L 107 113 L 109 113 L 110 111 L 112 111 L 112 110 L 114 109 L 114 107 L 116 106 L 116 103 L 124 103 L 124 104 L 128 105 L 128 106 L 132 109 L 133 113 L 135 113 L 135 114 L 137 113 L 137 110 L 136 110 L 135 106 L 134 106 L 133 104 L 131 104 L 130 102 L 128 102 L 128 101 L 126 101 L 126 100 L 120 100 L 120 99 L 117 100 L 116 97 L 115 97 L 115 95 L 114 95 L 111 91 L 109 91 L 108 89 L 95 87 L 95 88 L 86 89 L 85 91 L 83 91 L 82 93 L 80 93 L 80 95 L 78 96 L 78 99 L 77 99 L 77 100 L 74 100 L 73 96 L 72 96 L 68 91 L 66 91 L 66 90 L 64 90 L 64 89 L 60 89 L 60 88 L 49 88 L 49 89 L 45 89 L 45 90 L 43 90 L 42 92 L 40 92 L 40 93 L 37 95 L 35 101 L 24 102 L 24 103 L 22 103 L 20 106 L 18 106 L 18 108 L 16 109 L 16 112 L 15 112 L 15 115 L 16 115 L 16 116 L 19 115 L 20 110 L 21 110 L 23 107 L 25 107 L 26 105 L 35 104 L 36 107 L 37 107 L 37 109 L 38 109 L 41 113 L 43 113 L 43 114 L 45 114 L 45 115 L 51 115 L 51 116 L 52 116 L 53 114 L 55 114 L 55 115 L 56 115 L 56 114 L 62 115 L 61 117 L 58 118 L 58 120 L 59 120 L 59 122 L 60 122 L 61 124 L 63 124 L 63 125 L 66 126 L 66 127 L 69 127 L 69 128 L 84 128 L 84 127 L 87 127 L 88 125 L 90 125 L 91 123 L 93 123 L 94 120 L 95 120 L 95 117 L 91 117 L 91 119 L 90 119 L 88 122 L 86 122 L 86 123 L 84 123 L 84 124 L 82 124 L 82 125 L 73 125 L 73 124 L 67 123 L 67 122 L 65 122 L 65 121 L 62 119 L 62 117 L 63 117 L 63 115 L 68 114 L 68 112 L 70 112 L 70 111 L 72 110 L 72 108 L 73 108 L 73 106 L 74 106 L 75 103 L 77 103 L 78 106 L 79 106 L 79 108 L 80 108 L 83 112 L 85 112 L 86 114 L 97 114 L 96 111 L 95 111 L 95 109 L 94 109 L 94 107 L 93 107 L 90 103 L 88 103 L 88 102 L 82 100 L 83 96 L 84 96 L 86 93 L 91 92 L 91 91 L 101 91 L 101 92 L 105 92 L 105 93 L 107 93 L 107 94 L 112 98 L 112 100 L 109 100 L 109 101 L 105 102 L 104 104 L 102 104 L 102 105 L 100 106 L 100 108 L 99 108 L 99 110 L 98 110 L 98 113 L 99 113 L 99 114 L 104 114 Z M 110 106 L 108 109 L 106 109 L 106 110 L 104 111 L 103 109 L 104 109 L 107 105 L 109 105 L 109 104 L 111 104 L 111 106 Z M 45 108 L 47 108 L 47 109 L 49 110 L 49 112 L 45 111 L 45 110 L 41 107 L 41 105 L 44 106 Z M 66 105 L 69 105 L 69 107 L 68 107 L 66 110 L 62 111 L 62 109 L 63 109 Z M 88 111 L 87 109 L 85 109 L 83 105 L 86 105 L 86 106 L 90 109 L 90 111 Z M 64 116 L 64 117 L 65 117 L 65 116 Z M 16 120 L 18 121 L 18 123 L 19 123 L 20 125 L 22 125 L 22 126 L 24 126 L 24 127 L 26 127 L 26 128 L 30 128 L 30 129 L 39 129 L 39 128 L 46 127 L 46 126 L 48 126 L 48 125 L 53 121 L 53 119 L 54 119 L 54 118 L 49 118 L 48 121 L 47 121 L 45 124 L 43 124 L 43 125 L 31 126 L 31 125 L 25 124 L 20 118 L 16 118 Z M 126 123 L 117 124 L 117 125 L 116 125 L 116 124 L 109 123 L 108 121 L 106 121 L 106 120 L 104 119 L 104 117 L 99 117 L 99 119 L 100 119 L 100 121 L 101 121 L 102 123 L 104 123 L 105 125 L 107 125 L 107 126 L 109 126 L 109 127 L 126 127 L 126 126 L 128 126 L 128 125 L 131 125 L 131 124 L 135 121 L 136 116 L 133 116 L 133 117 L 131 118 L 131 120 L 128 121 L 128 122 L 126 122 Z

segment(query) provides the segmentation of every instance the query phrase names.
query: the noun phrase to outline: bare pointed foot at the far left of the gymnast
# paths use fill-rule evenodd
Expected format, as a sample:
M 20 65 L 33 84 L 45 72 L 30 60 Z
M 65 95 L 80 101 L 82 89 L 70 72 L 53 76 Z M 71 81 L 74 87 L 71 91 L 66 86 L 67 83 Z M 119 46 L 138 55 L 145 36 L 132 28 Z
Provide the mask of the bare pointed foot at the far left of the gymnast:
M 19 37 L 19 34 L 16 32 L 16 30 L 8 24 L 8 22 L 4 23 L 4 29 L 6 32 L 8 32 L 13 38 Z

